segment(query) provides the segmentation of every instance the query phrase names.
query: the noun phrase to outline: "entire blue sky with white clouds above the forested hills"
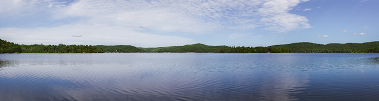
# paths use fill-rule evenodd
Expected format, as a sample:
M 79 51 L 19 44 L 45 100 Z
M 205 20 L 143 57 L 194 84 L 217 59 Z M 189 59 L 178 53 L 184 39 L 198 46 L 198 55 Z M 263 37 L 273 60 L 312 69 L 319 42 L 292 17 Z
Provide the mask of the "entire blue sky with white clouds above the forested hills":
M 0 0 L 18 44 L 270 46 L 379 41 L 376 0 Z

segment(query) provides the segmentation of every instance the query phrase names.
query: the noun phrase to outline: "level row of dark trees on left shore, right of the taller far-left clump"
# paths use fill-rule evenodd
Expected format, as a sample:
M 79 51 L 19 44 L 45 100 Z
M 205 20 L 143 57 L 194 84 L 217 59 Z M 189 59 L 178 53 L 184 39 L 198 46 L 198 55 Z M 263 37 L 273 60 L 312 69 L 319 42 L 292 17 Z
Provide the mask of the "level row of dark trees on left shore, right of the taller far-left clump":
M 23 53 L 103 53 L 99 47 L 88 45 L 20 45 Z

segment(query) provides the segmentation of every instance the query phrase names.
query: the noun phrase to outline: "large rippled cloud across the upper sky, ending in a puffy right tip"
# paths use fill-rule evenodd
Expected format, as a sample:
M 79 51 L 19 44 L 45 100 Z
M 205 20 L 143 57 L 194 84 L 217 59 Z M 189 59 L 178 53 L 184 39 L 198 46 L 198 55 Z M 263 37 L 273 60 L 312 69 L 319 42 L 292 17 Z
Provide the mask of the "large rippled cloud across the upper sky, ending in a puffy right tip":
M 57 18 L 80 16 L 91 23 L 144 26 L 158 31 L 264 27 L 285 32 L 311 28 L 305 16 L 288 13 L 301 2 L 306 1 L 78 1 L 55 13 Z

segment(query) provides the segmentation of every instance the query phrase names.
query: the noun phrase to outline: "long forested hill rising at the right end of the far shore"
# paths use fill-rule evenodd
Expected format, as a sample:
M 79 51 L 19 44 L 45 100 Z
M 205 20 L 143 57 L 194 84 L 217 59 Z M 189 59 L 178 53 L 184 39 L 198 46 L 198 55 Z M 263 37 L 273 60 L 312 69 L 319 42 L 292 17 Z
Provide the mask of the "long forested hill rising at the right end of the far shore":
M 288 48 L 291 52 L 317 52 L 317 53 L 361 53 L 379 52 L 379 42 L 368 43 L 346 43 L 346 44 L 314 44 L 314 43 L 292 43 L 285 45 L 273 45 L 268 47 Z M 370 50 L 371 48 L 371 50 Z

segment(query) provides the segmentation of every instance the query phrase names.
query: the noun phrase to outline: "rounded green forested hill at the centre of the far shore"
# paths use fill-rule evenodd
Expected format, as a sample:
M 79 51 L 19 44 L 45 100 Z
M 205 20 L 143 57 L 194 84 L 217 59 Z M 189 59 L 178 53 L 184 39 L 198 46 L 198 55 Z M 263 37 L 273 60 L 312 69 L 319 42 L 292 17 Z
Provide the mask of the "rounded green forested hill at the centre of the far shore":
M 229 48 L 228 46 L 208 46 L 204 44 L 193 44 L 184 46 L 170 46 L 170 47 L 158 47 L 158 48 L 139 48 L 144 52 L 219 52 L 223 48 Z

